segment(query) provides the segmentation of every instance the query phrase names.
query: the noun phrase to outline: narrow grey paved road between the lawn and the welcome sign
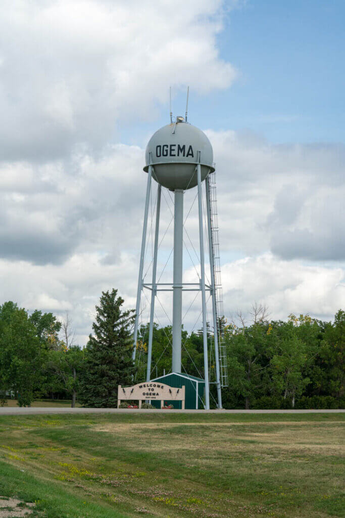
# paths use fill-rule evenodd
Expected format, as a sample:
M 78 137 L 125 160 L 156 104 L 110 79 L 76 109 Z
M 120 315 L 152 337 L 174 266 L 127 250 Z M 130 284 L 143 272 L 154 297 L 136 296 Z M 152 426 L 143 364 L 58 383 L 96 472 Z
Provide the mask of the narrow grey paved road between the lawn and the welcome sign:
M 209 413 L 209 414 L 310 414 L 310 413 L 344 413 L 345 410 L 158 410 L 127 408 L 65 408 L 65 407 L 0 407 L 0 415 L 35 415 L 35 414 L 99 414 L 99 413 Z

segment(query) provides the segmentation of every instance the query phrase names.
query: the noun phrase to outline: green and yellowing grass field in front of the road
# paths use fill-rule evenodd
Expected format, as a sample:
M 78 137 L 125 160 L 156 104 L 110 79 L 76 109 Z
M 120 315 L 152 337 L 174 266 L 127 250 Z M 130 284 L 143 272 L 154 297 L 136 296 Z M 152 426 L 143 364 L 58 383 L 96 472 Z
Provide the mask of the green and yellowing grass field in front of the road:
M 344 516 L 344 414 L 0 417 L 0 495 L 30 516 Z

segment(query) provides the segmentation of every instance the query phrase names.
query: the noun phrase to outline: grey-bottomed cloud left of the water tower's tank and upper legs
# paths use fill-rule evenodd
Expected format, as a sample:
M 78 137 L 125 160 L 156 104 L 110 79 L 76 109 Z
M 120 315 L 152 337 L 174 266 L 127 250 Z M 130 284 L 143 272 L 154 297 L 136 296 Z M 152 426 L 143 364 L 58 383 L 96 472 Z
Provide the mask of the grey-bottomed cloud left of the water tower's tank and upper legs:
M 129 246 L 142 215 L 142 159 L 140 148 L 114 145 L 97 159 L 83 152 L 65 162 L 0 164 L 1 256 L 62 263 L 74 251 Z

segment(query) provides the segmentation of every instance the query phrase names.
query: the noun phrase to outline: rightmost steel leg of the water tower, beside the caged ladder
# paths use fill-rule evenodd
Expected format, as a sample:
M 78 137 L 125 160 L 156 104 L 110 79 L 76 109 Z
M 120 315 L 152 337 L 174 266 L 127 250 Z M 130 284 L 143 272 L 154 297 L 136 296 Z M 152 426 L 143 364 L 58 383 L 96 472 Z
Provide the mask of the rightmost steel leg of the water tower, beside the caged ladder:
M 209 250 L 209 267 L 211 269 L 211 287 L 212 287 L 212 312 L 213 312 L 213 328 L 215 340 L 215 357 L 216 357 L 216 382 L 217 382 L 217 396 L 218 408 L 221 405 L 221 388 L 220 388 L 220 368 L 219 368 L 219 349 L 218 349 L 218 322 L 217 322 L 217 306 L 216 306 L 216 276 L 215 264 L 213 260 L 213 236 L 211 223 L 211 195 L 209 191 L 209 177 L 206 180 L 206 207 L 207 207 L 207 227 L 208 227 L 208 250 Z

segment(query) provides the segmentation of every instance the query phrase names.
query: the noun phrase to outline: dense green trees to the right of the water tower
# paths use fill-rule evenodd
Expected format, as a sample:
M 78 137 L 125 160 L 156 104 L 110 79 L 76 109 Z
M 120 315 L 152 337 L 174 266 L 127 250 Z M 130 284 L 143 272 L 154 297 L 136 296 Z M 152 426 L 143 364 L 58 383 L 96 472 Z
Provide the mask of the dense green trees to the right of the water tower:
M 308 315 L 288 322 L 226 326 L 230 386 L 224 408 L 341 408 L 344 395 L 344 322 Z

